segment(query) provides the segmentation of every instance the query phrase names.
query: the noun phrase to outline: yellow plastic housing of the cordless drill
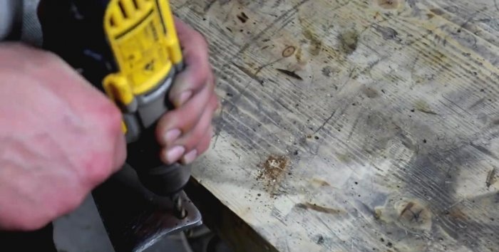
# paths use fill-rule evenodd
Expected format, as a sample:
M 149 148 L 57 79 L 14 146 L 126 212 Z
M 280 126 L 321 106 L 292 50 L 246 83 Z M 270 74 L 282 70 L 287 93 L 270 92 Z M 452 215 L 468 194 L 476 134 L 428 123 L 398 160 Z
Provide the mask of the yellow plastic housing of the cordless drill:
M 103 26 L 119 70 L 104 78 L 103 88 L 122 107 L 158 88 L 182 62 L 167 0 L 110 0 Z

